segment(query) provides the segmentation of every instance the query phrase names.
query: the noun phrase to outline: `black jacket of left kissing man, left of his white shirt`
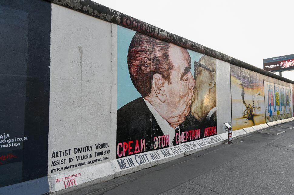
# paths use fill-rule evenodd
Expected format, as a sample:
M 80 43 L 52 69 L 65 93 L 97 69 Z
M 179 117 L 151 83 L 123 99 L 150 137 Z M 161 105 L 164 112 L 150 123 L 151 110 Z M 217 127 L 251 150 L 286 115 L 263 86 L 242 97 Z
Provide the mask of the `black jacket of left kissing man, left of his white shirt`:
M 129 143 L 129 141 L 133 141 L 131 143 L 131 152 L 135 149 L 135 142 L 138 140 L 140 144 L 141 140 L 143 139 L 145 139 L 146 145 L 145 152 L 155 150 L 154 137 L 164 135 L 142 97 L 135 99 L 132 102 L 129 102 L 125 106 L 121 107 L 117 111 L 116 122 L 116 144 L 118 146 L 119 143 L 122 143 L 123 145 L 124 142 Z M 167 147 L 169 146 L 160 148 L 158 147 L 156 149 Z M 122 148 L 120 147 L 120 149 Z M 129 156 L 132 154 L 129 154 L 128 150 L 123 156 L 119 157 L 118 153 L 116 153 L 116 155 L 117 158 L 122 158 L 124 156 Z

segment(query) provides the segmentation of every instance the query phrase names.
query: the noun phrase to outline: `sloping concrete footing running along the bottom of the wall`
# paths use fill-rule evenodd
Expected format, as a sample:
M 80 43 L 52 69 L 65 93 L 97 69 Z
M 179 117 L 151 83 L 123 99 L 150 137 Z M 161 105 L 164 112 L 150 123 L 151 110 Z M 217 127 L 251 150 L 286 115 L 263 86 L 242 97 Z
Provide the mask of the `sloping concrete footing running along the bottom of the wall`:
M 243 128 L 243 129 L 239 129 L 239 130 L 235 130 L 232 132 L 232 137 L 233 140 L 236 140 L 237 138 L 241 138 L 244 137 L 246 135 L 249 135 L 253 132 L 262 130 L 264 128 L 268 128 L 270 126 L 273 125 L 278 125 L 281 123 L 285 123 L 285 122 L 289 122 L 289 121 L 293 121 L 294 117 L 289 118 L 289 119 L 282 119 L 279 121 L 273 121 L 273 122 L 268 122 L 265 124 L 261 124 L 261 125 L 255 125 L 249 128 Z M 218 141 L 216 141 L 215 143 L 211 143 L 209 145 L 205 145 L 205 146 L 201 146 L 198 148 L 194 148 L 194 149 L 190 149 L 190 150 L 186 150 L 185 147 L 183 145 L 189 145 L 192 142 L 196 141 L 205 141 L 206 139 L 209 138 L 213 138 L 213 137 L 217 137 Z M 165 157 L 162 159 L 157 159 L 154 161 L 150 161 L 148 163 L 139 165 L 139 166 L 134 166 L 134 167 L 129 167 L 125 170 L 119 170 L 119 167 L 117 167 L 117 160 L 111 160 L 110 163 L 103 163 L 103 164 L 98 164 L 98 165 L 94 165 L 94 166 L 90 166 L 90 167 L 85 167 L 85 168 L 81 168 L 81 169 L 77 169 L 74 171 L 69 171 L 66 173 L 61 173 L 61 174 L 57 174 L 57 175 L 49 175 L 48 177 L 42 177 L 36 180 L 30 180 L 30 181 L 26 181 L 26 182 L 22 182 L 19 184 L 13 184 L 13 185 L 9 185 L 6 187 L 2 187 L 1 188 L 1 193 L 0 194 L 22 194 L 22 192 L 28 192 L 29 194 L 36 194 L 36 192 L 38 194 L 63 194 L 63 193 L 68 193 L 77 189 L 81 189 L 84 187 L 88 187 L 97 183 L 101 183 L 101 182 L 105 182 L 108 180 L 112 180 L 116 177 L 120 177 L 126 174 L 130 174 L 130 173 L 134 173 L 136 171 L 140 171 L 142 169 L 145 168 L 149 168 L 158 164 L 163 164 L 165 162 L 168 161 L 172 161 L 175 160 L 177 158 L 181 158 L 190 154 L 194 154 L 196 152 L 205 150 L 207 148 L 211 148 L 214 147 L 216 145 L 220 145 L 223 143 L 226 143 L 226 141 L 228 140 L 228 133 L 222 133 L 222 134 L 218 134 L 218 135 L 214 135 L 212 137 L 208 137 L 208 138 L 203 138 L 202 140 L 196 140 L 196 141 L 191 141 L 191 142 L 187 142 L 187 143 L 183 143 L 182 145 L 179 145 L 178 147 L 180 147 L 180 149 L 182 150 L 182 152 L 180 152 L 179 154 L 175 154 L 172 155 L 170 157 Z M 208 143 L 207 141 L 205 143 Z M 174 146 L 176 147 L 176 146 Z M 172 148 L 174 148 L 172 147 Z M 160 150 L 158 150 L 160 151 Z M 156 151 L 149 151 L 149 152 L 145 152 L 144 154 L 148 154 L 148 153 L 154 153 Z M 125 157 L 125 158 L 131 158 L 130 157 Z M 99 171 L 100 170 L 100 171 Z M 103 171 L 103 175 L 102 172 Z M 87 172 L 87 177 L 82 177 L 82 180 L 79 180 L 79 184 L 72 186 L 72 187 L 67 187 L 67 188 L 62 188 L 62 187 L 57 187 L 57 186 L 49 186 L 48 180 L 55 180 L 58 179 L 59 177 L 65 177 L 66 175 L 71 175 L 71 174 L 76 174 L 76 173 L 85 173 Z M 107 172 L 107 173 L 106 173 Z M 91 174 L 92 173 L 92 174 Z M 106 174 L 105 174 L 106 173 Z M 91 176 L 92 175 L 92 176 Z M 54 182 L 51 182 L 54 183 Z M 54 192 L 49 192 L 50 190 L 56 189 L 57 191 Z M 32 192 L 32 193 L 30 193 Z

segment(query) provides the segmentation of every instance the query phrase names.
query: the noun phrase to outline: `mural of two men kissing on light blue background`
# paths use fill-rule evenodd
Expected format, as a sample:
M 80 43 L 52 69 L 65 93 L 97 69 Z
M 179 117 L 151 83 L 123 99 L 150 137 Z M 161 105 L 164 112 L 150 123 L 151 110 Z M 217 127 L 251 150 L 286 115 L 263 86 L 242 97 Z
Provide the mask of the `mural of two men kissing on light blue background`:
M 122 27 L 117 40 L 117 158 L 216 135 L 214 58 Z

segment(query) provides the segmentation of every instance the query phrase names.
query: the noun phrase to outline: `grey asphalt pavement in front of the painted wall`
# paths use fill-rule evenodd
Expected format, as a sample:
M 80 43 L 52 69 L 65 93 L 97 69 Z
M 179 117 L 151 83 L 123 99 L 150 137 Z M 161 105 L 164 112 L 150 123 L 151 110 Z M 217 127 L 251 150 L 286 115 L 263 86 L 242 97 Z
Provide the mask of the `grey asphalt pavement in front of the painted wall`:
M 294 121 L 280 125 L 68 194 L 294 194 Z

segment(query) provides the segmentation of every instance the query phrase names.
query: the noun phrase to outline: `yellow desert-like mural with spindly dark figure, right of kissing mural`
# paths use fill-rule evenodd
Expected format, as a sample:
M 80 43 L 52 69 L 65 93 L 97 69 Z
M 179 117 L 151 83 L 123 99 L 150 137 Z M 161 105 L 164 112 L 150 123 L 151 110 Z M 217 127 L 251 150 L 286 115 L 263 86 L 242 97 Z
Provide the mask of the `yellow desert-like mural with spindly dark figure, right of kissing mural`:
M 263 76 L 231 64 L 232 128 L 265 123 Z

